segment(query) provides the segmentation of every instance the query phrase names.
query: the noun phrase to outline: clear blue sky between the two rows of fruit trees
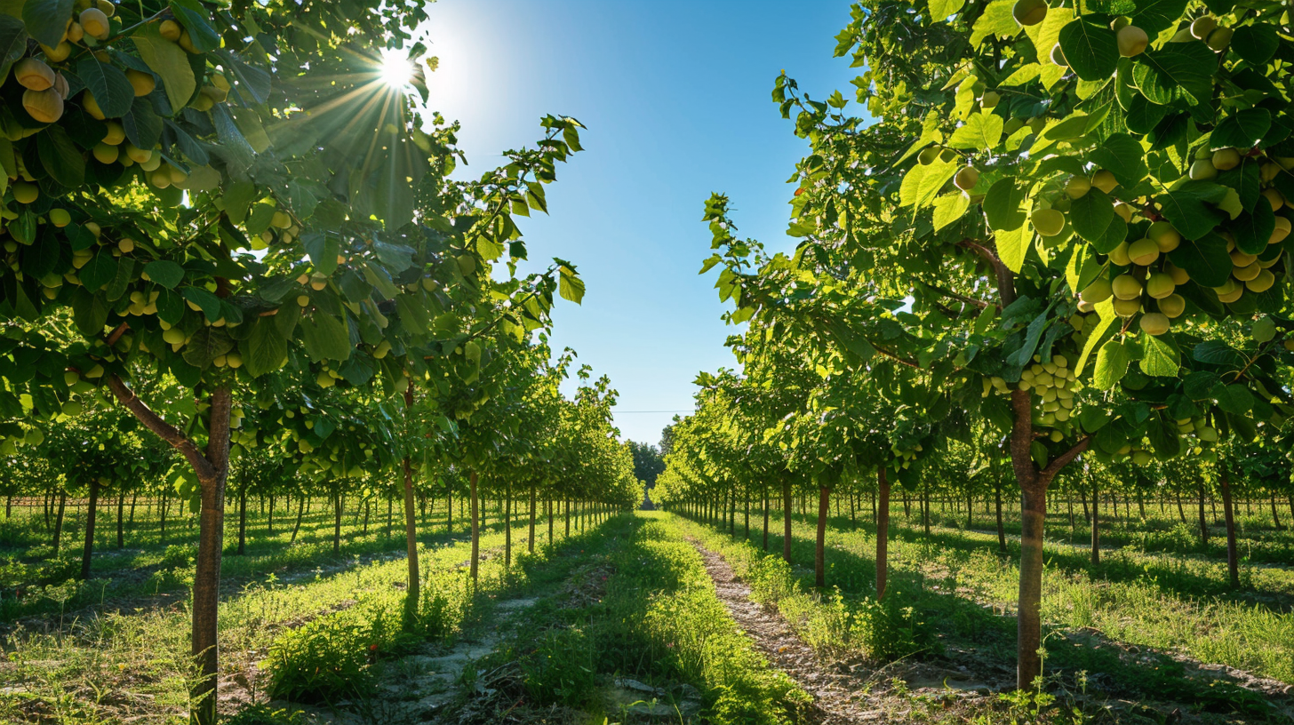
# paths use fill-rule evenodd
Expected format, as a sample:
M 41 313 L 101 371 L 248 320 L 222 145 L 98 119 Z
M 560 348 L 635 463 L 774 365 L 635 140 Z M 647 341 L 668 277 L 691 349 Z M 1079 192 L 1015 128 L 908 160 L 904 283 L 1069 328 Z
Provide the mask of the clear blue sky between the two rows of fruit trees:
M 547 189 L 550 216 L 521 229 L 533 260 L 568 259 L 587 285 L 581 307 L 560 300 L 554 346 L 611 377 L 622 438 L 656 443 L 673 417 L 656 410 L 691 410 L 696 373 L 735 365 L 717 273 L 697 274 L 703 203 L 726 193 L 740 236 L 793 247 L 787 179 L 806 144 L 773 82 L 785 69 L 815 98 L 851 97 L 857 70 L 832 58 L 849 4 L 440 0 L 430 13 L 430 106 L 463 123 L 455 176 L 533 142 L 543 114 L 587 127 Z

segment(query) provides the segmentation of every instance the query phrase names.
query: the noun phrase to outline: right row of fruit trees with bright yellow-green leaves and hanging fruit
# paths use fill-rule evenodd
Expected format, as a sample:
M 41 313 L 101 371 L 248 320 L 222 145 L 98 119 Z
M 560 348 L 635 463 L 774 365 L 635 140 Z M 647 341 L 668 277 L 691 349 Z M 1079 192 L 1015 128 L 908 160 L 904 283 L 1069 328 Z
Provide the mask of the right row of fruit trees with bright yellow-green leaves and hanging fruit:
M 810 145 L 795 254 L 738 238 L 727 198 L 705 206 L 703 273 L 749 322 L 743 374 L 701 377 L 661 482 L 716 506 L 744 479 L 787 498 L 797 475 L 826 513 L 846 471 L 875 476 L 884 596 L 893 482 L 1009 475 L 1030 687 L 1057 476 L 1209 467 L 1228 530 L 1238 478 L 1289 491 L 1282 453 L 1244 463 L 1288 449 L 1294 416 L 1289 22 L 1246 1 L 855 5 L 836 53 L 866 115 L 774 87 Z

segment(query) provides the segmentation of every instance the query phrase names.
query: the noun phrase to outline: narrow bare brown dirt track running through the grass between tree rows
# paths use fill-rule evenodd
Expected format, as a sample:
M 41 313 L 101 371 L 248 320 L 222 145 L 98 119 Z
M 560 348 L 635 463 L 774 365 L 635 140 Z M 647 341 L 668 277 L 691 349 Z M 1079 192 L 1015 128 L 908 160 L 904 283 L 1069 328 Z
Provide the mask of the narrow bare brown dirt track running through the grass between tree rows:
M 826 665 L 809 645 L 791 630 L 787 620 L 751 601 L 751 588 L 736 579 L 723 557 L 691 540 L 701 555 L 714 589 L 738 625 L 774 667 L 785 672 L 813 695 L 817 721 L 824 725 L 872 722 L 884 719 L 885 708 L 870 703 L 863 694 L 870 678 Z

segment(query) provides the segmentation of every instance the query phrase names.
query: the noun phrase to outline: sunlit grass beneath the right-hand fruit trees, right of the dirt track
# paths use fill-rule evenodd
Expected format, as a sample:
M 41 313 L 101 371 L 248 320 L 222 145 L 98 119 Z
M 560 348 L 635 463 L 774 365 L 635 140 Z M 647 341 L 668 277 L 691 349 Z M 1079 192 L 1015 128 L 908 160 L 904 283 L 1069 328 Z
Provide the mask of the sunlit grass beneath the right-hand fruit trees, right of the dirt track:
M 734 540 L 717 527 L 679 522 L 707 546 L 723 553 L 738 575 L 752 584 L 754 596 L 778 607 L 819 650 L 880 660 L 903 654 L 886 650 L 886 642 L 905 643 L 905 621 L 877 618 L 877 605 L 871 599 L 875 535 L 870 526 L 831 522 L 827 584 L 832 590 L 819 593 L 811 586 L 811 566 L 789 567 L 760 550 L 762 533 L 752 531 L 751 540 L 743 540 L 739 527 Z M 995 554 L 995 535 L 936 526 L 927 539 L 920 530 L 902 524 L 901 515 L 892 522 L 886 599 L 894 599 L 892 608 L 898 612 L 914 612 L 917 642 L 923 641 L 923 628 L 937 634 L 933 645 L 914 654 L 934 655 L 942 645 L 1013 663 L 1011 615 L 1018 585 L 1014 558 Z M 795 517 L 792 535 L 792 559 L 811 563 L 813 519 Z M 780 552 L 780 536 L 770 535 L 770 549 Z M 1055 541 L 1048 542 L 1047 561 L 1043 618 L 1052 633 L 1047 640 L 1052 672 L 1075 677 L 1104 673 L 1101 687 L 1115 697 L 1178 698 L 1203 709 L 1256 716 L 1269 712 L 1260 695 L 1227 682 L 1210 684 L 1150 650 L 1130 656 L 1127 645 L 1181 651 L 1205 663 L 1294 682 L 1294 615 L 1275 602 L 1246 601 L 1254 598 L 1254 592 L 1232 598 L 1187 593 L 1220 590 L 1214 581 L 1220 576 L 1224 585 L 1225 570 L 1219 570 L 1223 564 L 1218 562 L 1123 550 L 1112 552 L 1106 563 L 1091 567 L 1071 546 Z M 1286 590 L 1288 571 L 1263 571 L 1271 576 L 1271 588 Z M 1259 579 L 1255 572 L 1253 581 Z M 1082 628 L 1096 634 L 1087 636 Z

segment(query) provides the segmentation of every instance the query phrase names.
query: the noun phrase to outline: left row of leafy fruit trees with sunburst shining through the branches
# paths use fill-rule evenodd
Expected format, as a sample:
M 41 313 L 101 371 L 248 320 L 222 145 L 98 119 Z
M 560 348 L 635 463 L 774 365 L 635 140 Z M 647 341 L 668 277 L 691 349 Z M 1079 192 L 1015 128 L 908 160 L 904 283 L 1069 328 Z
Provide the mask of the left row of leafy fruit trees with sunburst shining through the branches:
M 415 475 L 458 471 L 474 510 L 483 487 L 626 498 L 611 391 L 563 401 L 568 364 L 543 344 L 555 298 L 584 284 L 564 260 L 518 274 L 516 219 L 546 212 L 581 126 L 546 117 L 533 148 L 458 181 L 457 126 L 413 113 L 435 67 L 422 4 L 89 5 L 0 10 L 0 417 L 8 452 L 66 439 L 87 462 L 61 473 L 91 498 L 167 470 L 190 501 L 207 725 L 245 462 L 334 492 L 399 470 L 410 601 Z M 84 410 L 135 422 L 65 426 Z M 180 466 L 132 458 L 158 439 Z

